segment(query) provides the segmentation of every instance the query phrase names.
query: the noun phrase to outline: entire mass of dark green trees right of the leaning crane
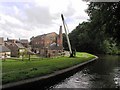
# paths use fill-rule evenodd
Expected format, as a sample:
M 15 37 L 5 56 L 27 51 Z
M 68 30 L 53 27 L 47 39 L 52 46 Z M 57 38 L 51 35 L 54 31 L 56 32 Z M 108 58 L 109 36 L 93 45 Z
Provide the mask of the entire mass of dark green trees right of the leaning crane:
M 90 2 L 86 10 L 90 19 L 69 34 L 72 47 L 90 53 L 119 54 L 119 10 L 120 2 Z

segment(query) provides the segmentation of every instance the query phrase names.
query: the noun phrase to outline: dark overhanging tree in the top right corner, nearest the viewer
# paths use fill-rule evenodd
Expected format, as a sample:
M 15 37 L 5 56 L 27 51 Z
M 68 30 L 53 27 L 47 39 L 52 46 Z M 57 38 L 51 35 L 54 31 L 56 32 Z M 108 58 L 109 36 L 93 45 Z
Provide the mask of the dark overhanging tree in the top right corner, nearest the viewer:
M 87 13 L 90 16 L 90 21 L 93 24 L 99 24 L 105 32 L 107 37 L 113 37 L 118 43 L 120 43 L 120 2 L 91 2 L 87 9 Z

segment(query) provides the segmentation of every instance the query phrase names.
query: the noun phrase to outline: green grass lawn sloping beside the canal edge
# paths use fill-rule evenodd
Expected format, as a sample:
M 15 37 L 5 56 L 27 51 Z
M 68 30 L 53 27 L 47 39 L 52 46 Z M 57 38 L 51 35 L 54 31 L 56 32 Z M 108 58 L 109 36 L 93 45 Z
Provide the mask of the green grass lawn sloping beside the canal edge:
M 88 53 L 77 53 L 76 56 L 76 58 L 32 58 L 31 61 L 21 61 L 20 59 L 13 58 L 8 59 L 2 62 L 2 82 L 6 84 L 47 75 L 54 71 L 68 68 L 95 58 L 94 55 Z

